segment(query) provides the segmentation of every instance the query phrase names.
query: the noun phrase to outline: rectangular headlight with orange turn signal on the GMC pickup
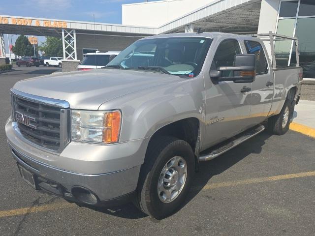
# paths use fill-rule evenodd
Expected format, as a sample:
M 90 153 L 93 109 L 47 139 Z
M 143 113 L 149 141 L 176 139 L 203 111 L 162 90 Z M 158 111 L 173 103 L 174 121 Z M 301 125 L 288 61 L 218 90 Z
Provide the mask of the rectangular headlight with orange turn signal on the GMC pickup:
M 121 117 L 120 111 L 72 110 L 71 139 L 103 144 L 118 142 Z

